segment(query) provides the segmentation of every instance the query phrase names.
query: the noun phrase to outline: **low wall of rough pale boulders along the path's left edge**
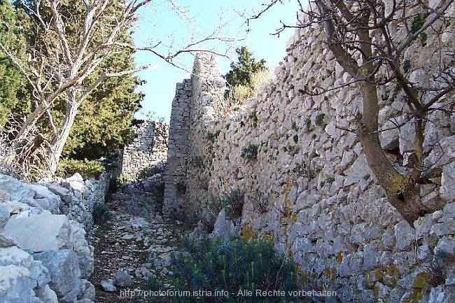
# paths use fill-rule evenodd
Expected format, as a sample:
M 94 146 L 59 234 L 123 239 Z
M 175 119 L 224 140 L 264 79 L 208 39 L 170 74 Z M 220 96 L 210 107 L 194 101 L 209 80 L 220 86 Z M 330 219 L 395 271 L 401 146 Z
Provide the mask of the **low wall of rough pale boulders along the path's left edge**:
M 78 176 L 64 182 L 27 184 L 0 174 L 0 302 L 93 303 L 93 247 L 83 224 L 62 214 L 91 218 L 90 199 L 79 195 L 92 188 Z M 79 203 L 68 208 L 68 199 Z

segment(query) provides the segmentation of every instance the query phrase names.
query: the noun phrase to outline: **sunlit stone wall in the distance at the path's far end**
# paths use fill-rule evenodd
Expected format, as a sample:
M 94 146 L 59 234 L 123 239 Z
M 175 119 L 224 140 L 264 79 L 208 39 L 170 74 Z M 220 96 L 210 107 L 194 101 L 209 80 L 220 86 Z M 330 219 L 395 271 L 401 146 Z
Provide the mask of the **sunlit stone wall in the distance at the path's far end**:
M 166 162 L 169 125 L 147 120 L 134 126 L 134 140 L 123 150 L 121 173 L 137 178 Z

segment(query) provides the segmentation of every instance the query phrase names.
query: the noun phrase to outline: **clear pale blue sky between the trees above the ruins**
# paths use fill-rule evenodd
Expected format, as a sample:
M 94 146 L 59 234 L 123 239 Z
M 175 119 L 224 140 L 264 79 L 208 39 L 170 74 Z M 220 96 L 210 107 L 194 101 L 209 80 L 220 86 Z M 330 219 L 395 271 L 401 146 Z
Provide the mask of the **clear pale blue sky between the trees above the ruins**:
M 273 72 L 275 66 L 286 55 L 286 42 L 294 30 L 286 29 L 279 37 L 270 34 L 281 27 L 280 20 L 286 24 L 295 24 L 296 12 L 299 9 L 297 1 L 283 0 L 283 4 L 276 3 L 260 19 L 250 21 L 248 33 L 245 18 L 241 16 L 258 13 L 263 8 L 262 3 L 270 1 L 175 0 L 179 5 L 179 9 L 176 10 L 175 7 L 172 8 L 172 1 L 163 0 L 155 6 L 141 10 L 137 27 L 134 29 L 134 41 L 139 46 L 151 46 L 161 42 L 155 49 L 167 54 L 169 50 L 173 53 L 221 27 L 222 32 L 218 36 L 244 38 L 244 41 L 229 43 L 211 41 L 200 48 L 221 53 L 228 50 L 228 55 L 236 61 L 235 48 L 246 45 L 256 59 L 265 59 Z M 190 71 L 193 59 L 193 55 L 183 54 L 173 62 Z M 153 69 L 138 73 L 141 79 L 146 80 L 146 84 L 138 89 L 146 94 L 146 97 L 141 103 L 143 108 L 136 114 L 136 118 L 144 119 L 152 114 L 153 118 L 164 118 L 169 121 L 176 83 L 190 78 L 190 74 L 167 64 L 150 52 L 137 52 L 135 61 L 139 66 L 144 64 L 155 66 Z M 228 59 L 218 58 L 221 73 L 225 74 L 230 70 L 230 63 Z

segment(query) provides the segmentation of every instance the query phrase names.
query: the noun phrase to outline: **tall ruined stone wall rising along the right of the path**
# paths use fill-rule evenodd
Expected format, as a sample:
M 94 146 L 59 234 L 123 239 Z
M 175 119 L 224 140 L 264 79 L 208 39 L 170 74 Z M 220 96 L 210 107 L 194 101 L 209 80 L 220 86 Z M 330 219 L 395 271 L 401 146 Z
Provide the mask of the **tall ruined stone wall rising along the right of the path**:
M 428 35 L 425 48 L 414 45 L 405 53 L 413 62 L 412 80 L 430 83 L 439 60 L 453 59 L 450 52 L 435 52 L 455 48 L 453 20 L 443 27 L 441 39 Z M 223 78 L 211 55 L 195 59 L 189 106 L 185 101 L 181 107 L 180 91 L 173 103 L 173 114 L 188 112 L 190 120 L 176 140 L 184 152 L 178 153 L 179 143 L 169 145 L 172 171 L 179 175 L 166 179 L 165 209 L 185 206 L 189 214 L 210 216 L 210 195 L 239 188 L 246 194 L 241 236 L 274 241 L 297 263 L 305 288 L 337 290 L 337 299 L 325 302 L 454 302 L 454 96 L 437 104 L 441 110 L 425 122 L 425 164 L 440 167 L 441 174 L 421 185 L 421 196 L 425 204 L 441 198 L 445 205 L 410 226 L 388 203 L 356 135 L 342 130 L 356 127 L 360 92 L 323 44 L 322 30 L 297 29 L 273 83 L 239 111 L 216 110 Z M 320 86 L 344 87 L 302 93 Z M 382 87 L 379 97 L 383 129 L 409 120 L 395 83 Z M 178 115 L 171 129 L 176 120 Z M 381 144 L 397 166 L 412 153 L 411 128 L 405 123 L 381 132 Z M 249 160 L 241 156 L 248 148 L 257 148 Z M 177 181 L 186 185 L 179 195 L 168 190 Z

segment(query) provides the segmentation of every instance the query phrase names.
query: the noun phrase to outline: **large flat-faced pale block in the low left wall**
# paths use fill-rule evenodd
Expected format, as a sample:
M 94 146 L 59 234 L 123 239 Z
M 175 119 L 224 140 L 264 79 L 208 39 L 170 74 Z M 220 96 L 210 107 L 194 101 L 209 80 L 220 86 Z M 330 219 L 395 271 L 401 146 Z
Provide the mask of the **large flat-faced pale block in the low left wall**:
M 34 252 L 71 248 L 71 226 L 64 215 L 10 218 L 3 233 L 17 239 L 20 248 Z

